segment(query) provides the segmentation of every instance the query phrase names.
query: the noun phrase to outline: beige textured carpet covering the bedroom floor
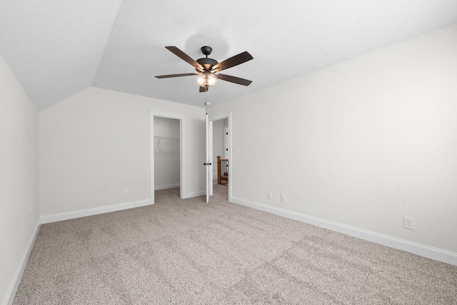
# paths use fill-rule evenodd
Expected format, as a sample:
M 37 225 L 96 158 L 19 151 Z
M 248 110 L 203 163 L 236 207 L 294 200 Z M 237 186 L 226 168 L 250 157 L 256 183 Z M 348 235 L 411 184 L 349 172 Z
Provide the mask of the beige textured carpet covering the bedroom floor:
M 14 304 L 457 304 L 457 267 L 227 202 L 44 224 Z

